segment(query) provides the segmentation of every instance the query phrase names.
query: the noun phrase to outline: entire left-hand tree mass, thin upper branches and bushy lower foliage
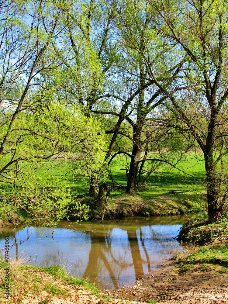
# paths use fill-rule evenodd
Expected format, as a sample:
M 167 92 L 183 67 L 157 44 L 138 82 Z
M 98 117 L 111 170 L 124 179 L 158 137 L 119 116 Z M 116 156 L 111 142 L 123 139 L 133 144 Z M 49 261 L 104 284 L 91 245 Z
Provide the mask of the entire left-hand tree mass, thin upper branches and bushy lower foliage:
M 72 106 L 64 107 L 59 100 L 58 92 L 65 83 L 60 76 L 62 61 L 53 52 L 52 43 L 61 43 L 60 24 L 64 20 L 61 3 L 3 4 L 1 214 L 16 219 L 23 209 L 33 219 L 41 214 L 53 224 L 66 216 L 68 207 L 75 203 L 78 215 L 82 216 L 88 208 L 74 201 L 66 178 L 59 180 L 51 171 L 61 157 L 66 158 L 66 153 L 82 154 L 82 151 L 85 169 L 97 170 L 102 162 L 103 131 L 96 119 L 85 117 Z M 78 157 L 79 168 L 84 165 L 80 161 Z M 50 173 L 46 180 L 39 175 L 43 168 Z

